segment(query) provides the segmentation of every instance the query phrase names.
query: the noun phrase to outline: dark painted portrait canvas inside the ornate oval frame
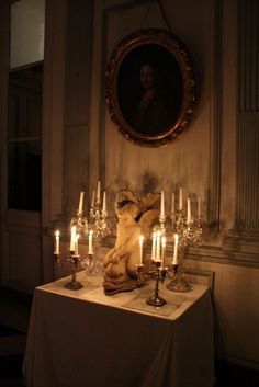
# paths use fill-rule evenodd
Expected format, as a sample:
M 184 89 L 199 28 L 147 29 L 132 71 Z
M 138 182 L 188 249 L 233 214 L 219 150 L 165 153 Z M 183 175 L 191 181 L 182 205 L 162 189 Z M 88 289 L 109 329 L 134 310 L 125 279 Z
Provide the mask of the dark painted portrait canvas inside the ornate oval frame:
M 173 126 L 182 103 L 183 81 L 176 58 L 161 46 L 135 48 L 123 60 L 117 83 L 125 121 L 144 135 Z

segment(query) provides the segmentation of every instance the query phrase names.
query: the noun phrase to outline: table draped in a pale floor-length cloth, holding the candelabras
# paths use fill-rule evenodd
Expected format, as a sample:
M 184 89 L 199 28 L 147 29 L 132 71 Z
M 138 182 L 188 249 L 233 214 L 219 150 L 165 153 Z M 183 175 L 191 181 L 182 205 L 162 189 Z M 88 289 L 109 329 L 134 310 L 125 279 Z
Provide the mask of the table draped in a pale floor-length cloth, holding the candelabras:
M 35 288 L 23 375 L 27 387 L 212 387 L 210 289 L 160 285 L 167 305 L 146 305 L 155 282 L 105 296 L 102 277 L 79 272 Z

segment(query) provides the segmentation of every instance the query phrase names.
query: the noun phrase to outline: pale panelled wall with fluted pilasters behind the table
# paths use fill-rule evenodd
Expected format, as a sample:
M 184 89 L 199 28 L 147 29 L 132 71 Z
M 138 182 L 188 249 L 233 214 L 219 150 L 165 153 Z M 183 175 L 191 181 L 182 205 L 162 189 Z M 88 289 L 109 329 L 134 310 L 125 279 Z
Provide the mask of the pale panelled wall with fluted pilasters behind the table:
M 115 45 L 128 34 L 140 27 L 167 29 L 158 2 L 46 1 L 42 254 L 34 250 L 33 265 L 16 254 L 16 264 L 27 269 L 22 280 L 31 286 L 38 283 L 37 273 L 43 283 L 53 280 L 53 229 L 61 229 L 66 252 L 68 220 L 79 193 L 86 192 L 89 205 L 98 179 L 110 208 L 119 189 L 140 195 L 148 186 L 165 191 L 169 210 L 171 191 L 180 184 L 184 202 L 189 194 L 201 196 L 207 220 L 204 246 L 189 250 L 185 262 L 214 273 L 216 353 L 259 367 L 258 4 L 162 4 L 193 58 L 199 98 L 185 135 L 166 148 L 148 149 L 127 141 L 111 122 L 105 68 Z M 2 219 L 4 224 L 4 214 Z

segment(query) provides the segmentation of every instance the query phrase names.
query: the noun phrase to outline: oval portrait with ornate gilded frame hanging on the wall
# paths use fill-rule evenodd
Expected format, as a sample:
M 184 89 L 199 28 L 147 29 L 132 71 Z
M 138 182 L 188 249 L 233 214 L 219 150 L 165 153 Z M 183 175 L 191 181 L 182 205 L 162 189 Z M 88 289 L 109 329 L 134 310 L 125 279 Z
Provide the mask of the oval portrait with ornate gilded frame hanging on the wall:
M 105 92 L 111 119 L 127 140 L 167 146 L 193 118 L 196 81 L 191 57 L 167 30 L 135 32 L 111 54 Z

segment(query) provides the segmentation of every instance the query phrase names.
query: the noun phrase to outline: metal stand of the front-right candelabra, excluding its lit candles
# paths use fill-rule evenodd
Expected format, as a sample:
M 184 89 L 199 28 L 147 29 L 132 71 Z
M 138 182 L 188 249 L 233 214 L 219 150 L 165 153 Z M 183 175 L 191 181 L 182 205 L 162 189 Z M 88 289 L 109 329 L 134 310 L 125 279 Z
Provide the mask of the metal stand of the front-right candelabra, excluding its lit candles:
M 173 272 L 164 266 L 161 261 L 151 261 L 146 264 L 137 264 L 136 268 L 138 286 L 146 280 L 156 281 L 154 295 L 146 300 L 146 304 L 155 307 L 160 307 L 167 304 L 166 299 L 159 296 L 159 283 L 164 283 L 167 276 L 171 278 L 173 276 Z

